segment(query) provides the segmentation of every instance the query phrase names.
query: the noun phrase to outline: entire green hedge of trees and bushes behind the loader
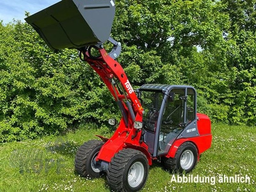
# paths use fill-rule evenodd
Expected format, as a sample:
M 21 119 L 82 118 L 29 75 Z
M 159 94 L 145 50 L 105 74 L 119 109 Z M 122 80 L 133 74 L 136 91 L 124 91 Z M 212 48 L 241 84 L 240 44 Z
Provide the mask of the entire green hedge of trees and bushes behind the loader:
M 198 111 L 213 122 L 255 125 L 255 4 L 117 1 L 118 61 L 135 87 L 189 84 L 197 89 Z M 76 50 L 53 52 L 28 24 L 0 22 L 0 142 L 59 134 L 84 122 L 105 130 L 108 118 L 120 117 L 116 111 Z

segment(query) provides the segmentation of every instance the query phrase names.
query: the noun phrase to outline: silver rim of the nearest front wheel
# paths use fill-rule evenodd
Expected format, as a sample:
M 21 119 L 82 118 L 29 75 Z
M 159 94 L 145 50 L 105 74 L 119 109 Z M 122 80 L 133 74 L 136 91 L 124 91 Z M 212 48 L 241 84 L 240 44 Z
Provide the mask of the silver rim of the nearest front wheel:
M 132 164 L 128 172 L 128 183 L 132 188 L 140 185 L 144 177 L 144 166 L 141 162 Z

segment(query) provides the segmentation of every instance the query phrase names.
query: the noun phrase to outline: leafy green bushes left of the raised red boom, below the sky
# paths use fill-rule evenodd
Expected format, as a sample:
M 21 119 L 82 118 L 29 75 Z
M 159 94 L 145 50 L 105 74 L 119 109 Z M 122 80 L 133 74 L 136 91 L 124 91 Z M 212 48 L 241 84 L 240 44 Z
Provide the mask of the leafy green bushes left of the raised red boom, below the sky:
M 0 50 L 1 142 L 58 134 L 85 119 L 102 123 L 116 116 L 114 99 L 76 51 L 52 52 L 20 21 L 0 26 Z

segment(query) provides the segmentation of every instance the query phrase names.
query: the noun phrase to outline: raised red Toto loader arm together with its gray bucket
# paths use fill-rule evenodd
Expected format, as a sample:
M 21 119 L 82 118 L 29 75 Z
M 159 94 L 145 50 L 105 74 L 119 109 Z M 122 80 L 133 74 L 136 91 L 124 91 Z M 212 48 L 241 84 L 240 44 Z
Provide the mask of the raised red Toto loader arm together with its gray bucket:
M 80 51 L 80 59 L 100 75 L 118 103 L 125 126 L 130 128 L 135 120 L 142 121 L 143 109 L 124 69 L 115 60 L 121 52 L 121 44 L 110 37 L 115 10 L 115 0 L 62 0 L 25 20 L 51 49 Z M 110 53 L 103 47 L 106 41 L 114 45 Z M 92 47 L 99 51 L 99 57 L 91 55 Z

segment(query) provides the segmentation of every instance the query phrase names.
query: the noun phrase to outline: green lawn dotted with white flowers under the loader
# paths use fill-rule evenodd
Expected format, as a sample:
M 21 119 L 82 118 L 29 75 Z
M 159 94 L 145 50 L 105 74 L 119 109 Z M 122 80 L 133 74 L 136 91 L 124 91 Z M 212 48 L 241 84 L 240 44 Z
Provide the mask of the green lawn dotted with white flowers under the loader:
M 109 192 L 105 177 L 91 180 L 74 172 L 76 149 L 84 141 L 96 139 L 94 135 L 100 133 L 99 129 L 88 127 L 92 125 L 59 137 L 0 144 L 0 192 Z M 172 174 L 154 163 L 142 191 L 256 191 L 256 127 L 213 124 L 212 134 L 212 148 L 202 154 L 191 174 L 217 178 L 221 174 L 247 174 L 251 177 L 250 184 L 174 183 Z

